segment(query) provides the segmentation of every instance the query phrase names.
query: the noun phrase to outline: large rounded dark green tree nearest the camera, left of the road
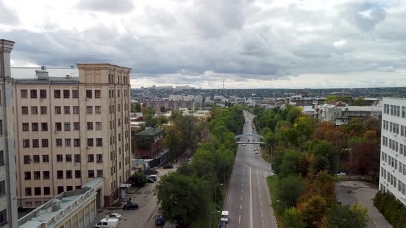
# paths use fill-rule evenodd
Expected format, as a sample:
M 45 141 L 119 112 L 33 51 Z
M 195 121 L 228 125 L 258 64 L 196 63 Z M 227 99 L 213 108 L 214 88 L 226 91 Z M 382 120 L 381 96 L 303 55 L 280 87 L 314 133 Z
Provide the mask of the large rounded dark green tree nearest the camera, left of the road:
M 204 179 L 171 172 L 161 177 L 154 192 L 164 218 L 186 227 L 191 221 L 207 216 L 209 189 L 209 182 Z

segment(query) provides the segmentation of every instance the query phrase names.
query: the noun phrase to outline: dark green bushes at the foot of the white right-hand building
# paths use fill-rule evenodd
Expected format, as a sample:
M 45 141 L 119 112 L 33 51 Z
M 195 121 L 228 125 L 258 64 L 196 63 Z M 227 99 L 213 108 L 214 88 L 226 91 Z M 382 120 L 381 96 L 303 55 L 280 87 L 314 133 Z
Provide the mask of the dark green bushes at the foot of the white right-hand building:
M 374 206 L 394 228 L 406 228 L 406 206 L 395 196 L 379 191 L 374 198 Z

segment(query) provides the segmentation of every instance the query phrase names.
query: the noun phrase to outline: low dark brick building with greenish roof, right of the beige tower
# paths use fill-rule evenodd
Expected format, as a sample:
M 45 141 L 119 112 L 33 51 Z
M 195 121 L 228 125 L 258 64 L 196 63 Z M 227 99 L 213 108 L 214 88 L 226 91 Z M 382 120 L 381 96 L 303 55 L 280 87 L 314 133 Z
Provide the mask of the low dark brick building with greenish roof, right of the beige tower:
M 133 132 L 133 159 L 154 159 L 162 150 L 162 139 L 164 139 L 165 131 L 160 128 L 146 128 L 140 133 Z M 140 137 L 151 139 L 151 148 L 142 150 L 137 147 L 136 141 Z

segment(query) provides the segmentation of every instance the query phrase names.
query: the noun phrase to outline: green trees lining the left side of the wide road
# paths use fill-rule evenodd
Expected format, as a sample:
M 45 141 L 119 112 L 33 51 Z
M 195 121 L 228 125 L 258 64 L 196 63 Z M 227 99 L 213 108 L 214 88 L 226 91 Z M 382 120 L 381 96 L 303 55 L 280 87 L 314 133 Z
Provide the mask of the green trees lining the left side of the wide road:
M 173 126 L 167 129 L 166 137 L 172 131 L 169 133 L 172 138 L 166 140 L 178 141 L 180 137 L 178 144 L 171 144 L 177 151 L 182 146 L 197 146 L 182 141 L 182 137 L 193 134 L 196 129 L 190 129 L 190 126 L 182 128 L 186 127 L 185 119 L 180 122 L 177 118 L 181 119 L 173 117 Z M 224 192 L 220 185 L 225 183 L 224 176 L 228 179 L 231 175 L 237 151 L 234 137 L 236 133 L 242 132 L 243 126 L 241 107 L 213 109 L 209 124 L 206 125 L 209 141 L 197 147 L 189 163 L 183 163 L 176 172 L 162 176 L 156 186 L 160 212 L 167 221 L 186 227 L 199 218 L 209 218 L 209 212 L 213 211 L 211 206 L 221 207 Z

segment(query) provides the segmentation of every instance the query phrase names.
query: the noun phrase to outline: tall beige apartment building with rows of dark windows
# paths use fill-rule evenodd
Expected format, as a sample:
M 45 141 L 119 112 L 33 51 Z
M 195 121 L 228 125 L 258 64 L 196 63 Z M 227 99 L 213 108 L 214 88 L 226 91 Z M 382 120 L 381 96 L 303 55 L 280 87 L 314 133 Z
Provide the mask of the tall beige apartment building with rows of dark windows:
M 78 78 L 52 77 L 43 67 L 36 78 L 14 80 L 19 207 L 39 207 L 96 177 L 104 179 L 98 207 L 111 205 L 131 175 L 131 69 L 77 67 Z

